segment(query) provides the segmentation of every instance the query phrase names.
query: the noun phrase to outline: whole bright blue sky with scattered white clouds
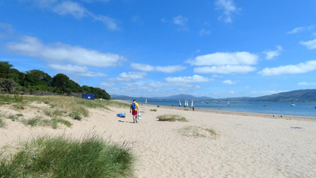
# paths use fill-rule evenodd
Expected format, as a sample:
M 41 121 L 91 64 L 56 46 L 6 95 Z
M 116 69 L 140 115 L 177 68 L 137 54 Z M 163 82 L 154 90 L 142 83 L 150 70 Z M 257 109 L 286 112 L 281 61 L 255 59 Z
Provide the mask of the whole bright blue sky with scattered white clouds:
M 316 1 L 0 2 L 0 60 L 110 94 L 217 98 L 316 86 Z

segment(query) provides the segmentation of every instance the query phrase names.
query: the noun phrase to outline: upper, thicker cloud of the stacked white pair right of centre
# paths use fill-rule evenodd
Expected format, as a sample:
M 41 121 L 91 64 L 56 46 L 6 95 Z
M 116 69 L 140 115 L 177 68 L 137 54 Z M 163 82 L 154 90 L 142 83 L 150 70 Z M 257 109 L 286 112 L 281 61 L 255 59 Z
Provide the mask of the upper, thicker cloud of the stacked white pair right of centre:
M 191 66 L 220 66 L 220 65 L 253 65 L 257 64 L 258 56 L 249 52 L 234 53 L 212 53 L 197 56 L 193 60 L 188 59 L 185 62 Z

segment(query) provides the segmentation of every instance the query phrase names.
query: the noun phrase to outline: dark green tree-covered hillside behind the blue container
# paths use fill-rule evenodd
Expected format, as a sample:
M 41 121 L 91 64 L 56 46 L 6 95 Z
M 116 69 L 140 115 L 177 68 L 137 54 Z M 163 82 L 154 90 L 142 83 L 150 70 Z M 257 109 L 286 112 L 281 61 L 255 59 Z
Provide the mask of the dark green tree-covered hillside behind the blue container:
M 0 92 L 9 94 L 48 92 L 66 95 L 93 93 L 95 98 L 111 99 L 105 90 L 86 85 L 80 86 L 65 74 L 58 73 L 51 77 L 40 70 L 29 70 L 23 73 L 13 68 L 8 61 L 0 61 Z

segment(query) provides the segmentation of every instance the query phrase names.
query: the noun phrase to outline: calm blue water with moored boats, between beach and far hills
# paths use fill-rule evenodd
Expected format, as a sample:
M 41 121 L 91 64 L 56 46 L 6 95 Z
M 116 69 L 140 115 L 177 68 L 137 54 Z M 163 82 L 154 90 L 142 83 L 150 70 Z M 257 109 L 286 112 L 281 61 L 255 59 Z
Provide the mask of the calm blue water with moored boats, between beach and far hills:
M 139 104 L 145 104 L 145 100 L 137 100 Z M 189 102 L 189 101 L 188 101 Z M 147 100 L 149 105 L 164 105 L 178 107 L 179 101 L 157 101 Z M 221 108 L 223 111 L 239 111 L 239 112 L 254 112 L 265 113 L 274 115 L 289 115 L 289 116 L 307 116 L 316 117 L 316 103 L 294 103 L 295 106 L 291 106 L 291 103 L 274 103 L 274 102 L 222 102 L 218 104 L 216 102 L 205 103 L 193 103 L 195 108 L 218 110 Z M 184 102 L 181 102 L 182 108 L 184 108 Z M 189 102 L 191 105 L 191 101 Z M 264 106 L 266 105 L 266 106 Z M 283 107 L 280 107 L 283 106 Z

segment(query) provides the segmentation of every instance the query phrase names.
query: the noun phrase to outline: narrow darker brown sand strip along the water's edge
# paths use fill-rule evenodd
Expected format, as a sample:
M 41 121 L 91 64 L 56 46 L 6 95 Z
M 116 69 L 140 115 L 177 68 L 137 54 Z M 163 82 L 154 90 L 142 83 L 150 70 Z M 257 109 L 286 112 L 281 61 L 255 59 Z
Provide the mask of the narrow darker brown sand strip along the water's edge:
M 120 102 L 120 103 L 128 103 L 129 100 L 119 100 L 114 99 L 112 101 Z M 130 101 L 129 101 L 130 102 Z M 144 105 L 140 104 L 141 106 L 150 106 L 150 107 L 157 107 L 157 105 Z M 168 108 L 168 109 L 175 109 L 175 110 L 184 110 L 188 109 L 189 111 L 192 111 L 192 108 L 185 108 L 185 107 L 170 107 L 170 106 L 164 106 L 160 105 L 160 108 Z M 309 120 L 309 121 L 316 121 L 316 118 L 313 117 L 306 117 L 306 116 L 290 116 L 290 115 L 282 115 L 282 118 L 280 115 L 275 115 L 273 117 L 273 114 L 264 114 L 264 113 L 256 113 L 256 112 L 238 112 L 238 111 L 223 111 L 223 110 L 210 110 L 210 109 L 194 109 L 194 112 L 209 112 L 209 113 L 217 113 L 217 114 L 230 114 L 230 115 L 239 115 L 239 116 L 256 116 L 256 117 L 262 117 L 262 118 L 278 118 L 278 119 L 289 119 L 289 120 Z

